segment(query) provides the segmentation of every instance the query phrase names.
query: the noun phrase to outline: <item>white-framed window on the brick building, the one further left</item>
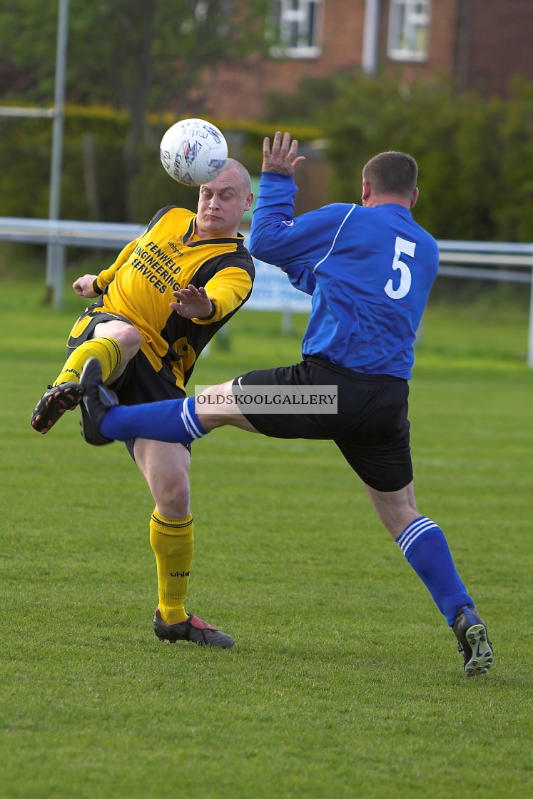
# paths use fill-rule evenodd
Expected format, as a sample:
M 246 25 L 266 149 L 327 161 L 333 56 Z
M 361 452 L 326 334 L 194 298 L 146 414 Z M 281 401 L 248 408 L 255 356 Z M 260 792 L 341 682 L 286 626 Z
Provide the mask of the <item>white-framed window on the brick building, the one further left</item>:
M 273 0 L 270 54 L 316 58 L 322 50 L 322 0 Z

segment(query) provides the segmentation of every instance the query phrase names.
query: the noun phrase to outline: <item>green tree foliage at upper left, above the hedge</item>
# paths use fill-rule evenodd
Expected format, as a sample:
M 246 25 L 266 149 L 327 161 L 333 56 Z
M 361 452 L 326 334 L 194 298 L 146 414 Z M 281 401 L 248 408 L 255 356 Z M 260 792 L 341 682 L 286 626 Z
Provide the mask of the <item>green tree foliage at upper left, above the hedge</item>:
M 201 116 L 210 75 L 264 42 L 266 0 L 70 0 L 66 100 L 127 109 L 123 141 L 129 215 L 151 112 Z M 53 105 L 58 3 L 3 0 L 0 99 Z M 13 81 L 14 74 L 18 80 Z

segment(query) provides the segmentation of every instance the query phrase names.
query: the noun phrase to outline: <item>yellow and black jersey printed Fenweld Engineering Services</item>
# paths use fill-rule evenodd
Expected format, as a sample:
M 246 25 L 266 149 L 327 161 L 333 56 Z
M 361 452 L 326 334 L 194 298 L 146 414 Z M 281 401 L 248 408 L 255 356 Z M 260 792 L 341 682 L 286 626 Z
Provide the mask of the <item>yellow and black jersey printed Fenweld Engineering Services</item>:
M 153 368 L 171 368 L 183 388 L 197 356 L 214 334 L 248 300 L 255 269 L 244 237 L 201 239 L 196 214 L 167 206 L 145 233 L 125 246 L 94 280 L 101 294 L 93 312 L 125 316 L 141 332 L 142 352 Z M 207 319 L 184 319 L 169 304 L 173 291 L 193 284 L 213 303 Z

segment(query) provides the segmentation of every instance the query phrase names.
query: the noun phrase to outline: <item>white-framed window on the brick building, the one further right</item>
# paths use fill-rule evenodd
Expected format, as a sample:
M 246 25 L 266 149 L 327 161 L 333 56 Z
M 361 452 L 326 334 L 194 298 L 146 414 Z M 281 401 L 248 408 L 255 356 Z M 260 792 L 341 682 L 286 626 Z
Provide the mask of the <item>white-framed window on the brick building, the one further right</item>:
M 431 0 L 391 0 L 388 18 L 388 58 L 425 61 L 429 54 Z

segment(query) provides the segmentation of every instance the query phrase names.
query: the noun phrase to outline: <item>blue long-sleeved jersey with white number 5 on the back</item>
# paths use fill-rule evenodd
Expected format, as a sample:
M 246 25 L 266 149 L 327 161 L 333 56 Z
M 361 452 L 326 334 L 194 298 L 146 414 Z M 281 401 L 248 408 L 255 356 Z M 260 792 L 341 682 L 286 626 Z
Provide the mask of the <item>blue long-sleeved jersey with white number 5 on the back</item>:
M 335 203 L 293 218 L 296 191 L 292 177 L 262 173 L 249 250 L 312 295 L 302 354 L 408 380 L 436 240 L 393 203 Z

